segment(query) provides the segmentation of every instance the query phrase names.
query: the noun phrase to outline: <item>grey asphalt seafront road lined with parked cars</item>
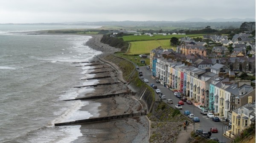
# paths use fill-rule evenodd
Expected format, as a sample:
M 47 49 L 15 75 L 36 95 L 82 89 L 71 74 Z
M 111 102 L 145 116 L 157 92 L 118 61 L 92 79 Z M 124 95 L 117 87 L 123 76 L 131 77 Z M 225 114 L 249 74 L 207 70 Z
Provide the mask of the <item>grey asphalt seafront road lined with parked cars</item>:
M 151 78 L 151 70 L 147 70 L 146 66 L 142 66 L 140 67 L 140 69 L 138 71 L 142 71 L 143 76 L 148 79 L 148 85 L 150 84 L 155 84 L 157 85 L 157 89 L 160 89 L 161 92 L 163 93 L 163 95 L 166 96 L 166 99 L 172 99 L 173 100 L 173 104 L 177 104 L 178 101 L 180 101 L 179 98 L 175 97 L 174 92 L 169 90 L 168 88 L 164 87 L 162 84 L 160 83 L 155 83 L 155 80 Z M 157 93 L 155 93 L 156 98 L 159 98 L 159 96 L 157 95 Z M 163 100 L 164 102 L 166 102 L 166 100 Z M 222 132 L 224 133 L 225 131 L 225 124 L 222 122 L 214 122 L 212 121 L 212 119 L 207 118 L 207 115 L 202 115 L 200 113 L 201 109 L 199 109 L 198 107 L 195 107 L 193 105 L 189 105 L 186 104 L 186 102 L 184 102 L 184 105 L 182 105 L 183 109 L 181 112 L 184 112 L 185 110 L 189 110 L 192 114 L 195 115 L 195 117 L 198 117 L 200 119 L 199 123 L 195 123 L 194 129 L 203 129 L 204 132 L 209 132 L 211 127 L 216 127 L 218 129 L 218 133 L 212 133 L 211 137 L 217 137 L 218 140 L 223 140 L 223 141 L 229 141 L 230 139 L 225 137 L 224 135 L 222 135 Z M 230 130 L 231 128 L 228 127 L 227 130 Z

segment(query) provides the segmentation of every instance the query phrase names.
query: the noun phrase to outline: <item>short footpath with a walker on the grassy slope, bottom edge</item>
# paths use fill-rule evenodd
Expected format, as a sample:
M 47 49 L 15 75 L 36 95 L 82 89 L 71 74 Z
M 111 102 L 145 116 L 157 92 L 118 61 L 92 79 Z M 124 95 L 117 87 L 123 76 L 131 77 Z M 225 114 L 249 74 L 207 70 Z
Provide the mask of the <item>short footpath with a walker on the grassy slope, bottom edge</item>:
M 178 135 L 178 138 L 176 140 L 176 143 L 186 143 L 189 138 L 190 138 L 190 134 L 193 131 L 193 125 L 190 124 L 187 126 L 186 130 L 183 129 L 183 127 L 181 128 L 181 131 Z

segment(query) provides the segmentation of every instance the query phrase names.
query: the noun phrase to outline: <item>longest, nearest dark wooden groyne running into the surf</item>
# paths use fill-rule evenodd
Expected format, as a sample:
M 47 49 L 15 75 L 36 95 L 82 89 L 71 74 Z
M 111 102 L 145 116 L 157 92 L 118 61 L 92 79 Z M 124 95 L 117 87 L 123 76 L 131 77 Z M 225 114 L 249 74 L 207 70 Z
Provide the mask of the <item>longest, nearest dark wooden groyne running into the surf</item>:
M 115 115 L 115 116 L 108 116 L 108 117 L 101 117 L 101 118 L 90 118 L 84 120 L 76 120 L 71 122 L 64 122 L 64 123 L 55 123 L 54 126 L 67 126 L 67 125 L 76 125 L 81 123 L 92 123 L 92 122 L 101 122 L 101 121 L 111 121 L 123 118 L 132 118 L 137 116 L 147 115 L 147 112 L 138 112 L 138 113 L 131 113 L 131 114 L 123 114 L 123 115 Z

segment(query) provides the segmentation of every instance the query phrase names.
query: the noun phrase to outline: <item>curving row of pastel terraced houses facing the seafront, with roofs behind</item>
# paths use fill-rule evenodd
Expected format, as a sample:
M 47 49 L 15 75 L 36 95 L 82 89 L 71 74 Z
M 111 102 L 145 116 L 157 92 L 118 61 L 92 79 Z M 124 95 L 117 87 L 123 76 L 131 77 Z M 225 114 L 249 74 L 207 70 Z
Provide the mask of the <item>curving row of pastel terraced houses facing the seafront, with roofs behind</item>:
M 206 52 L 204 48 L 199 51 L 201 54 L 202 51 Z M 229 121 L 234 120 L 233 114 L 236 112 L 233 111 L 248 104 L 249 97 L 254 109 L 250 113 L 253 114 L 254 111 L 254 114 L 247 115 L 246 118 L 244 116 L 243 123 L 246 122 L 247 126 L 255 122 L 255 85 L 251 85 L 251 81 L 236 79 L 235 74 L 238 70 L 247 70 L 255 75 L 255 57 L 254 60 L 242 61 L 239 58 L 203 58 L 204 55 L 199 53 L 194 53 L 193 56 L 189 53 L 184 55 L 172 49 L 163 50 L 158 47 L 150 52 L 152 76 L 170 90 L 183 93 L 199 107 L 206 108 L 219 118 Z M 236 115 L 234 118 L 241 116 Z M 240 128 L 236 123 L 230 132 L 237 134 Z

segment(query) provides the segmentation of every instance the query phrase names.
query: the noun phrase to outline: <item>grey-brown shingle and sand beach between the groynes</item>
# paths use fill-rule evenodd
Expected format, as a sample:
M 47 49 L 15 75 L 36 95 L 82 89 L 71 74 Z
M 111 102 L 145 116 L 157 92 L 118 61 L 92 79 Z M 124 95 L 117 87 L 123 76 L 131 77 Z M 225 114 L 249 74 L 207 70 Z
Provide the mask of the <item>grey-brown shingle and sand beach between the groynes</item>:
M 86 45 L 94 50 L 102 51 L 102 54 L 94 57 L 93 60 L 98 60 L 98 57 L 103 57 L 108 54 L 119 51 L 109 45 L 100 42 L 102 35 L 90 35 Z M 96 72 L 95 69 L 94 72 Z M 113 75 L 113 73 L 106 73 Z M 105 76 L 107 76 L 105 74 Z M 96 74 L 95 76 L 97 76 Z M 107 81 L 117 81 L 117 77 L 98 79 L 99 83 Z M 124 84 L 106 85 L 94 87 L 94 92 L 86 95 L 78 95 L 79 98 L 92 95 L 113 94 L 125 91 L 131 91 Z M 97 106 L 95 109 L 92 106 Z M 90 100 L 89 106 L 84 106 L 80 110 L 90 112 L 93 117 L 106 117 L 113 115 L 122 115 L 133 112 L 141 112 L 142 106 L 133 95 L 116 96 L 111 98 L 102 98 Z M 96 111 L 98 111 L 96 113 Z M 74 140 L 72 143 L 148 143 L 149 142 L 149 121 L 145 116 L 124 118 L 105 122 L 85 123 L 80 127 L 82 136 Z

